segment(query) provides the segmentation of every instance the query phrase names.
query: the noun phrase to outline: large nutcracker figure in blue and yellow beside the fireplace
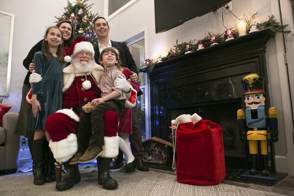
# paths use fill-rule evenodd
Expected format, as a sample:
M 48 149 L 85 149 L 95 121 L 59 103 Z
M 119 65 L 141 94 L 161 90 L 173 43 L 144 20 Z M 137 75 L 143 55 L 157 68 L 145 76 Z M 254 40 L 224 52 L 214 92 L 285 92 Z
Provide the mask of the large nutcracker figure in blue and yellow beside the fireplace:
M 278 141 L 277 108 L 265 106 L 264 78 L 253 73 L 242 81 L 246 109 L 237 111 L 241 141 L 248 140 L 252 168 L 250 174 L 257 174 L 258 165 L 263 165 L 261 174 L 270 174 L 270 143 Z M 258 152 L 260 144 L 260 153 Z M 258 159 L 258 156 L 262 159 Z M 263 160 L 263 164 L 258 164 Z

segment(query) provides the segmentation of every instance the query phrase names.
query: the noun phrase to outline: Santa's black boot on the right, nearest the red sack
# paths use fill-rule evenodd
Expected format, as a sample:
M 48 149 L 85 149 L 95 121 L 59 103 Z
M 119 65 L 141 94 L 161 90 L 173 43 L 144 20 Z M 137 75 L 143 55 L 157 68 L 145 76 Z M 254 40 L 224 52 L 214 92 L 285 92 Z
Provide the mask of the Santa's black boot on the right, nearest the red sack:
M 103 189 L 115 189 L 118 187 L 118 182 L 109 175 L 109 166 L 112 158 L 98 157 L 98 184 L 102 185 Z

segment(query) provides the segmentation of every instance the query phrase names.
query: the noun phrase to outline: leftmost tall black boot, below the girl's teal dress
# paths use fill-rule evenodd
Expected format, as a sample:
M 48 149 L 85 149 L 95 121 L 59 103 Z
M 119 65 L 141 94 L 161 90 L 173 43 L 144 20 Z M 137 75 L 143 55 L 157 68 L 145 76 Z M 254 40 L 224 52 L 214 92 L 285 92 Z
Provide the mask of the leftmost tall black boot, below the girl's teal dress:
M 35 172 L 34 172 L 34 184 L 42 185 L 45 183 L 45 165 L 43 159 L 43 139 L 34 140 L 34 162 L 35 162 Z

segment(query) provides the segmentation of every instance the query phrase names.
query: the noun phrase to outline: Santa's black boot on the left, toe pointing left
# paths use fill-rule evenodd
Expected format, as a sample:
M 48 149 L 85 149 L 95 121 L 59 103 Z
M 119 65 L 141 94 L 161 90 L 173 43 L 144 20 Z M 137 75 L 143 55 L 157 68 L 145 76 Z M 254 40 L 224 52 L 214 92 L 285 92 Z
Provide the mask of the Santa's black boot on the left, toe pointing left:
M 60 191 L 73 188 L 73 185 L 81 180 L 77 164 L 70 165 L 70 162 L 67 161 L 63 163 L 63 165 L 67 171 L 67 174 L 63 180 L 56 183 L 56 189 Z

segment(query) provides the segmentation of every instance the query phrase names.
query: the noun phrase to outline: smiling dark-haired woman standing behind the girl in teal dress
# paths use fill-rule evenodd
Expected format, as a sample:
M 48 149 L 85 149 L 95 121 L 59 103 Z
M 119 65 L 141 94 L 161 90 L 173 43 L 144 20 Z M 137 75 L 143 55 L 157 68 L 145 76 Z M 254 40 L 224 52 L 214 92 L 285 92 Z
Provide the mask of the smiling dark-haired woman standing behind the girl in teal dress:
M 66 56 L 69 48 L 72 45 L 73 39 L 74 39 L 74 33 L 73 33 L 74 25 L 71 21 L 63 20 L 63 21 L 58 22 L 56 26 L 60 29 L 60 31 L 62 33 L 63 40 L 64 40 L 63 55 Z M 18 122 L 16 124 L 15 131 L 14 131 L 14 134 L 16 134 L 16 135 L 23 135 L 23 136 L 27 137 L 29 150 L 30 150 L 30 153 L 31 153 L 33 160 L 34 160 L 34 155 L 33 155 L 34 131 L 28 130 L 31 108 L 29 108 L 26 105 L 25 96 L 27 95 L 28 91 L 31 88 L 31 85 L 29 83 L 29 75 L 35 69 L 35 64 L 33 62 L 34 54 L 38 51 L 41 51 L 42 42 L 43 42 L 43 39 L 40 40 L 35 46 L 33 46 L 32 49 L 30 49 L 30 51 L 28 52 L 28 54 L 25 57 L 24 62 L 23 62 L 23 65 L 24 65 L 25 69 L 28 70 L 28 72 L 25 76 L 25 81 L 24 81 L 23 90 L 22 90 L 21 109 L 20 109 Z M 46 140 L 44 140 L 44 142 L 47 143 Z M 48 143 L 47 143 L 47 145 L 44 145 L 44 146 L 47 146 L 46 149 L 44 150 L 44 152 L 46 152 L 45 157 L 48 160 L 47 161 L 48 165 L 46 166 L 46 173 L 47 173 L 46 182 L 51 182 L 51 181 L 55 180 L 55 174 L 54 174 L 54 171 L 55 171 L 54 162 L 55 161 L 54 161 L 53 156 L 52 156 L 50 149 L 48 147 Z M 34 164 L 33 164 L 33 168 L 34 168 Z M 33 170 L 33 172 L 34 172 L 34 170 Z

